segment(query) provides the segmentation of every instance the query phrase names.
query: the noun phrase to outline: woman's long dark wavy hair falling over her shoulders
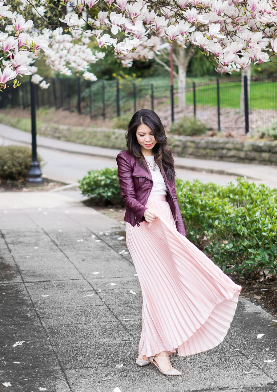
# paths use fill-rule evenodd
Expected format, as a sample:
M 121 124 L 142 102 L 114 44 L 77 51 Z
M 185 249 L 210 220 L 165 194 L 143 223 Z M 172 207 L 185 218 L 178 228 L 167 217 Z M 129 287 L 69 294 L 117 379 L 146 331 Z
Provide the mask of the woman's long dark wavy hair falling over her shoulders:
M 141 152 L 136 136 L 137 128 L 140 124 L 147 125 L 153 132 L 157 142 L 153 147 L 153 152 L 155 154 L 154 160 L 160 168 L 162 176 L 164 177 L 166 172 L 167 179 L 171 183 L 174 183 L 176 173 L 174 170 L 173 158 L 171 156 L 171 149 L 167 146 L 167 137 L 165 136 L 164 126 L 162 125 L 160 117 L 153 110 L 140 109 L 131 118 L 128 125 L 128 131 L 125 134 L 129 154 L 138 158 L 140 165 L 147 170 L 147 163 Z

